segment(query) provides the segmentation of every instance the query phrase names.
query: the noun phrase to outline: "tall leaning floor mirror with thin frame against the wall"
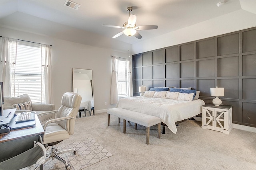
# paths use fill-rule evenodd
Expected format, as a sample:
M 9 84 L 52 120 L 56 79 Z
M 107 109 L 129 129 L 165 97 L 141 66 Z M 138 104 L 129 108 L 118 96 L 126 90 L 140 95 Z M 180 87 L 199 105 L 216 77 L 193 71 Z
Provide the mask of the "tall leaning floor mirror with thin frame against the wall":
M 78 117 L 94 115 L 92 70 L 72 68 L 73 92 L 82 96 Z

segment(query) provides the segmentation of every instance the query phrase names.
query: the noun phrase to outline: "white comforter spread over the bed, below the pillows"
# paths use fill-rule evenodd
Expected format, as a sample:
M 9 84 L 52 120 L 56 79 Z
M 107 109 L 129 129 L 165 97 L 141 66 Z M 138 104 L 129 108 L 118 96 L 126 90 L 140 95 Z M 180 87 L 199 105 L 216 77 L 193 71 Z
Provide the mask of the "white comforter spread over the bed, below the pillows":
M 204 101 L 200 99 L 184 101 L 136 96 L 120 99 L 116 107 L 160 117 L 161 121 L 176 134 L 175 122 L 202 113 L 202 105 L 204 104 Z

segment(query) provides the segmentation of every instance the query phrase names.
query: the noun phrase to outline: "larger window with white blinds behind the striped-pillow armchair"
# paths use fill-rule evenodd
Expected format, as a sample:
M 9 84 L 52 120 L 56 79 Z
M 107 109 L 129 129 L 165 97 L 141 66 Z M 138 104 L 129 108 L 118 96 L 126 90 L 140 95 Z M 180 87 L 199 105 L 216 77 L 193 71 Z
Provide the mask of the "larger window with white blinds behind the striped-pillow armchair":
M 40 44 L 18 41 L 15 68 L 10 71 L 12 96 L 28 94 L 33 103 L 44 102 Z

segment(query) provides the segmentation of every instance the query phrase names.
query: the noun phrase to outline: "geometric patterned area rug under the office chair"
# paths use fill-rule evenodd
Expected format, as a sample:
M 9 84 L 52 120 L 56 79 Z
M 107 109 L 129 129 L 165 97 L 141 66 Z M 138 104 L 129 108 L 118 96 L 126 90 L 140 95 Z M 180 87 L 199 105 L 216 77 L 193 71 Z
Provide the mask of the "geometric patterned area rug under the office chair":
M 72 170 L 82 170 L 87 166 L 100 162 L 106 158 L 112 156 L 108 150 L 100 146 L 94 139 L 88 138 L 84 141 L 75 141 L 68 145 L 56 145 L 59 151 L 66 149 L 76 149 L 77 154 L 71 152 L 66 152 L 59 154 L 64 160 L 71 165 Z M 47 153 L 50 151 L 51 147 L 47 150 Z M 22 170 L 34 169 L 36 165 L 24 168 Z M 44 163 L 44 170 L 66 170 L 63 162 L 60 162 L 58 159 L 54 160 L 49 159 Z

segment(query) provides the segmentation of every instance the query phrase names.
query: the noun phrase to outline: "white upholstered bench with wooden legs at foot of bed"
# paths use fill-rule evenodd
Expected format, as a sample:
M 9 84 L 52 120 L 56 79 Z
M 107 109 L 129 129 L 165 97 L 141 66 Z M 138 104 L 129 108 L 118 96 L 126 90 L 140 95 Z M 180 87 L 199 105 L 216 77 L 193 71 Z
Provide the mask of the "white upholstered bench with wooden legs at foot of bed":
M 146 144 L 149 144 L 149 129 L 150 126 L 157 124 L 158 138 L 160 138 L 161 131 L 161 119 L 156 116 L 139 113 L 132 110 L 122 108 L 112 108 L 108 110 L 108 126 L 110 122 L 110 115 L 117 116 L 118 118 L 124 119 L 124 131 L 126 133 L 126 120 L 135 123 L 135 129 L 137 129 L 137 123 L 146 127 Z M 120 119 L 119 119 L 120 123 Z

